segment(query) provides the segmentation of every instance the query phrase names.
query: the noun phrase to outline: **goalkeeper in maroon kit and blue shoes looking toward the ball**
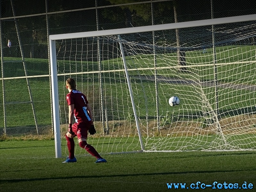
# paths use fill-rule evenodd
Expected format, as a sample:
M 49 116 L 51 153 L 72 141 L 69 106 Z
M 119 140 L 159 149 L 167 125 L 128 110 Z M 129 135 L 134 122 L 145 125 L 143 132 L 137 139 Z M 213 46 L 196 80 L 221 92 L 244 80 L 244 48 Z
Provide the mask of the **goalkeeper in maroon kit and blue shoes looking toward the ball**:
M 76 90 L 76 82 L 72 78 L 66 80 L 66 88 L 69 90 L 66 96 L 69 106 L 69 130 L 66 134 L 69 157 L 62 163 L 77 161 L 74 155 L 75 142 L 73 138 L 75 136 L 78 137 L 79 146 L 97 158 L 95 163 L 106 163 L 107 161 L 99 155 L 95 148 L 87 144 L 88 132 L 93 135 L 96 133 L 96 130 L 92 120 L 92 109 L 90 108 L 86 96 Z M 74 118 L 75 123 L 72 124 Z

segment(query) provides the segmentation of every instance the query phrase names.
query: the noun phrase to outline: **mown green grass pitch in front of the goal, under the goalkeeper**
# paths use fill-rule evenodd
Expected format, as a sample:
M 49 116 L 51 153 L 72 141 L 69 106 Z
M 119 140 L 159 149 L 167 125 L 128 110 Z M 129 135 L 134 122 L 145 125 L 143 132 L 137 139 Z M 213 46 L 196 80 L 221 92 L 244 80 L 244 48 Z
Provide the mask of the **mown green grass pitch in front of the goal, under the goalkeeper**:
M 215 191 L 210 187 L 174 190 L 166 184 L 189 187 L 197 181 L 207 185 L 225 181 L 239 187 L 246 181 L 256 188 L 255 151 L 103 155 L 105 164 L 79 156 L 77 163 L 62 164 L 65 157 L 55 158 L 54 140 L 9 140 L 0 142 L 0 156 L 1 192 Z

